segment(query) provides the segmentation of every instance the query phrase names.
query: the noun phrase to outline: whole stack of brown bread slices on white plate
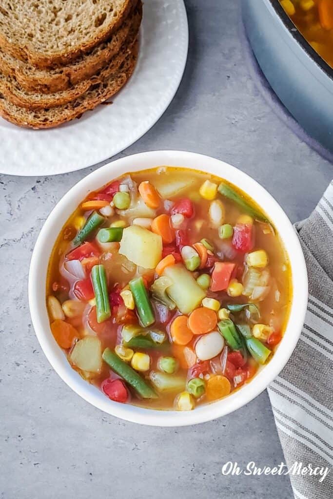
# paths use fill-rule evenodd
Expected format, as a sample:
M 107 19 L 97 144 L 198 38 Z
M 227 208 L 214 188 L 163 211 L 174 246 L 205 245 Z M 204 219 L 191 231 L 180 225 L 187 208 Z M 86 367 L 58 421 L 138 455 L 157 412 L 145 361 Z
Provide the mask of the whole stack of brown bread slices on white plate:
M 0 0 L 0 115 L 50 128 L 105 102 L 133 73 L 141 0 Z

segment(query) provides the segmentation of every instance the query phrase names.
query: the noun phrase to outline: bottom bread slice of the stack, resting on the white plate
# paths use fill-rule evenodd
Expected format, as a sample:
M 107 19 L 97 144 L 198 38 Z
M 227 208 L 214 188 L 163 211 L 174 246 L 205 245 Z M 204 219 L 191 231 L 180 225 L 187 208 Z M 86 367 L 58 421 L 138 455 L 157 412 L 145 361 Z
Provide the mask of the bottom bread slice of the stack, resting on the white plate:
M 15 125 L 34 129 L 51 128 L 73 118 L 79 118 L 82 113 L 105 102 L 124 86 L 134 71 L 137 48 L 138 43 L 136 42 L 133 51 L 126 57 L 116 74 L 103 83 L 92 85 L 89 90 L 74 101 L 50 109 L 30 111 L 11 104 L 0 94 L 0 115 Z

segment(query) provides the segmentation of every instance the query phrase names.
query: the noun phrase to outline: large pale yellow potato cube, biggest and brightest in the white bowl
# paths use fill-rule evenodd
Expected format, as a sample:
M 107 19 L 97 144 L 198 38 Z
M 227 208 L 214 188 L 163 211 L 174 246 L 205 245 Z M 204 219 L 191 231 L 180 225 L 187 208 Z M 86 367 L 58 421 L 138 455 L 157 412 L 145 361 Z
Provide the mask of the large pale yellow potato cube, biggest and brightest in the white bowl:
M 137 225 L 123 231 L 119 253 L 144 268 L 155 268 L 162 258 L 162 238 Z

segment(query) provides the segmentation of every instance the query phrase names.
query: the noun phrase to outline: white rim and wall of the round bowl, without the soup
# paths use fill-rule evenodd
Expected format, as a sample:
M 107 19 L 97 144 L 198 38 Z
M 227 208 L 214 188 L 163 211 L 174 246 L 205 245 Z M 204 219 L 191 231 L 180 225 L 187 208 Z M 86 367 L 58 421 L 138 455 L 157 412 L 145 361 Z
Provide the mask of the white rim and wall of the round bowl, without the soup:
M 109 400 L 101 391 L 84 381 L 74 371 L 65 354 L 55 342 L 47 316 L 45 283 L 47 264 L 63 225 L 69 215 L 90 191 L 125 172 L 144 170 L 160 165 L 181 166 L 220 176 L 258 201 L 278 230 L 292 267 L 293 298 L 285 335 L 272 360 L 240 390 L 229 397 L 199 406 L 193 411 L 156 411 Z M 250 402 L 280 373 L 300 337 L 308 302 L 307 269 L 296 232 L 288 217 L 272 196 L 256 181 L 237 168 L 208 156 L 185 151 L 151 151 L 118 159 L 94 171 L 76 184 L 52 210 L 36 241 L 29 270 L 29 306 L 38 341 L 52 367 L 68 386 L 90 404 L 127 421 L 153 426 L 183 426 L 210 421 L 224 416 Z

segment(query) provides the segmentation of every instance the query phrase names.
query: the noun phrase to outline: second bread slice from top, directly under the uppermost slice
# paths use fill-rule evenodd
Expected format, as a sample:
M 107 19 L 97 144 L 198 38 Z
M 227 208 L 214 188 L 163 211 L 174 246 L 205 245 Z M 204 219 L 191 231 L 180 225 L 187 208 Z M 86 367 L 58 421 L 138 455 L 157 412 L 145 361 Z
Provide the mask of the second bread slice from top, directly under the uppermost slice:
M 0 72 L 14 77 L 21 90 L 35 93 L 54 93 L 67 90 L 96 74 L 120 51 L 130 30 L 139 30 L 142 19 L 141 0 L 111 38 L 95 47 L 89 54 L 56 69 L 38 69 L 0 50 Z

